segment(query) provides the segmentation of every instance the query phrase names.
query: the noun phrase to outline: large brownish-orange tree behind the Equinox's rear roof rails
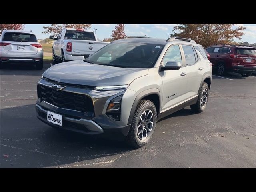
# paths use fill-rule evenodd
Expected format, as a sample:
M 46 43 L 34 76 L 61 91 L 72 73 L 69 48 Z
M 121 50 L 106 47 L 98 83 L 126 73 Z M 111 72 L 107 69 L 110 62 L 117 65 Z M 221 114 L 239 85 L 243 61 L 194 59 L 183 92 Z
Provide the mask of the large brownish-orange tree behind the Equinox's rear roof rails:
M 179 24 L 174 30 L 179 30 L 172 34 L 172 37 L 191 38 L 198 44 L 208 47 L 212 44 L 230 43 L 233 38 L 239 38 L 244 33 L 246 27 L 240 26 L 232 29 L 235 24 Z M 174 31 L 173 30 L 173 31 Z

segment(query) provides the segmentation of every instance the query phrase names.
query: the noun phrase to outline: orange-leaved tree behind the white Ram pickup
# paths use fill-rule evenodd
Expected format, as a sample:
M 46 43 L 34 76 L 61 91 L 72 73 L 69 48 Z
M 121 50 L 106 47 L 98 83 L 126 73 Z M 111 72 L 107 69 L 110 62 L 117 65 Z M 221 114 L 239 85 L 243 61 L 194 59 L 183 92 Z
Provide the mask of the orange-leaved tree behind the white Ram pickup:
M 51 26 L 43 27 L 45 31 L 42 33 L 51 33 L 57 36 L 63 28 L 90 29 L 91 24 L 51 24 Z

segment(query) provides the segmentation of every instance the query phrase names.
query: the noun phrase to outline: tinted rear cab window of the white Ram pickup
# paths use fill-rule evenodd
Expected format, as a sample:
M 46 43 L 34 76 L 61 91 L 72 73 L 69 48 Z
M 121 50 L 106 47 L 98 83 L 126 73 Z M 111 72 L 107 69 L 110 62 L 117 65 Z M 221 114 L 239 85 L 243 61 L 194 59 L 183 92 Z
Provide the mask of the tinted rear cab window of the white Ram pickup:
M 78 40 L 92 40 L 95 41 L 93 32 L 87 31 L 66 31 L 65 38 L 67 39 L 78 39 Z

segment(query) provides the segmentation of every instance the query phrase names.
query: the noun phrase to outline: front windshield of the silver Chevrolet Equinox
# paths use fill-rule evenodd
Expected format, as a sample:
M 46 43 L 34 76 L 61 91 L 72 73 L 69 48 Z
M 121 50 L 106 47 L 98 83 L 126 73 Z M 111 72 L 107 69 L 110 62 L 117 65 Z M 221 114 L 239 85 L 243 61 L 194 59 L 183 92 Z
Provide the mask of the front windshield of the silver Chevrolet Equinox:
M 164 45 L 112 42 L 88 57 L 85 62 L 126 68 L 154 67 Z

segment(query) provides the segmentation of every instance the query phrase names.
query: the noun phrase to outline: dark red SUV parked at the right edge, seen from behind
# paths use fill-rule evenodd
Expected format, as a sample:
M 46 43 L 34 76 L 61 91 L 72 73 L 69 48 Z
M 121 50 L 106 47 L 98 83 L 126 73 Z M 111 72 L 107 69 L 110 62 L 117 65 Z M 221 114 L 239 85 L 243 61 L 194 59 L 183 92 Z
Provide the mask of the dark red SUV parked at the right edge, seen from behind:
M 256 71 L 256 48 L 247 45 L 216 44 L 206 48 L 218 75 L 226 72 L 248 77 Z

